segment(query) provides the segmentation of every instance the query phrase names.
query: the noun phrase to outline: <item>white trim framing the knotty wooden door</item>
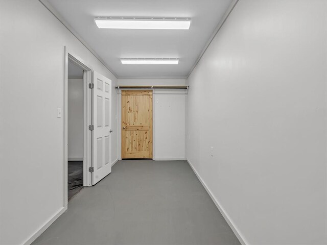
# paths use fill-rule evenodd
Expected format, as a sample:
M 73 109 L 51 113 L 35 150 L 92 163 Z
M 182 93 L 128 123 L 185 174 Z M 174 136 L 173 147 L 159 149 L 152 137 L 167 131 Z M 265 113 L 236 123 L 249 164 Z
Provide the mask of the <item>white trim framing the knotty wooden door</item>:
M 122 90 L 152 90 L 152 160 L 155 159 L 155 147 L 154 147 L 154 139 L 155 139 L 155 123 L 154 123 L 154 108 L 155 108 L 155 95 L 154 89 L 138 89 L 138 88 L 129 88 L 129 89 L 120 89 L 118 90 L 118 103 L 117 103 L 117 110 L 118 110 L 118 160 L 122 160 Z M 142 158 L 140 158 L 142 159 Z

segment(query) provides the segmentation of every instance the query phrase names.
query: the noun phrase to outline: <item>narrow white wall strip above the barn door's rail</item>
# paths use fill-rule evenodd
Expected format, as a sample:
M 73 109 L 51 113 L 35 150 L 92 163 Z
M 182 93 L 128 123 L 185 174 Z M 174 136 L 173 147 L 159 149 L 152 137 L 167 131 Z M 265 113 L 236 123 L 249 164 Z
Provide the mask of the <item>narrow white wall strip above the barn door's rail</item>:
M 128 86 L 128 85 L 132 85 L 132 86 L 142 86 L 142 85 L 146 85 L 146 86 L 155 86 L 155 85 L 159 85 L 159 86 L 184 86 L 186 85 L 186 79 L 183 78 L 176 78 L 176 79 L 172 79 L 172 78 L 145 78 L 145 79 L 141 79 L 141 78 L 125 78 L 125 79 L 118 79 L 117 81 L 118 85 L 121 86 Z

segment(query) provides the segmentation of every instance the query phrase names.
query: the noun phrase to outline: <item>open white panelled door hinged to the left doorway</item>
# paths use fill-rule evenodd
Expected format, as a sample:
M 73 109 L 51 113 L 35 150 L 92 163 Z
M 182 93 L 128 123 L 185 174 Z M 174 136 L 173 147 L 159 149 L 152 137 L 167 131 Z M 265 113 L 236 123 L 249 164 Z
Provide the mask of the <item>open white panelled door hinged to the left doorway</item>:
M 111 80 L 93 72 L 92 185 L 111 173 Z

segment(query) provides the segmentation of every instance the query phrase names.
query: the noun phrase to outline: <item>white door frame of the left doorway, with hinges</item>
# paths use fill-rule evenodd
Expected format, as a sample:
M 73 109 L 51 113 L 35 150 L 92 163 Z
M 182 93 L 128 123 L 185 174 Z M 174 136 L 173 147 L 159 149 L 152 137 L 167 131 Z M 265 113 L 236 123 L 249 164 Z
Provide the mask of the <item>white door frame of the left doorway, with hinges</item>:
M 83 69 L 83 186 L 92 186 L 92 174 L 88 168 L 92 166 L 92 90 L 88 84 L 92 83 L 93 69 L 76 53 L 64 46 L 64 79 L 63 79 L 63 206 L 68 205 L 68 61 Z

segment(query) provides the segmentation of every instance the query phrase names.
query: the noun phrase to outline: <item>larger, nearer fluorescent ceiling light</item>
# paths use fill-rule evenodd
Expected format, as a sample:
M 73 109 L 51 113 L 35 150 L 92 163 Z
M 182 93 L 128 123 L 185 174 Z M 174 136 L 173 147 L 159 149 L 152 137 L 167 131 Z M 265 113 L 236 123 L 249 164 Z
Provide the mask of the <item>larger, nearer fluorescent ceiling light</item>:
M 98 28 L 188 30 L 191 19 L 181 18 L 96 18 Z

